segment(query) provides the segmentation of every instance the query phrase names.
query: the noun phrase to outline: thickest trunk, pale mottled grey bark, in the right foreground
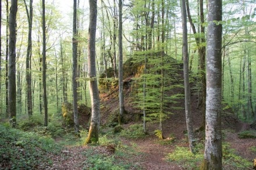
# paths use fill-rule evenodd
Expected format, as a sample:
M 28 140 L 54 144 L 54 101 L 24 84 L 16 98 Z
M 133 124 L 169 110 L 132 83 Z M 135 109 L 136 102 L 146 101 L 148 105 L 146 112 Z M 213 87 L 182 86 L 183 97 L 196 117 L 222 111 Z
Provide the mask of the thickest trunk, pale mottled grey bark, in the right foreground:
M 222 1 L 208 2 L 205 152 L 201 169 L 222 169 Z

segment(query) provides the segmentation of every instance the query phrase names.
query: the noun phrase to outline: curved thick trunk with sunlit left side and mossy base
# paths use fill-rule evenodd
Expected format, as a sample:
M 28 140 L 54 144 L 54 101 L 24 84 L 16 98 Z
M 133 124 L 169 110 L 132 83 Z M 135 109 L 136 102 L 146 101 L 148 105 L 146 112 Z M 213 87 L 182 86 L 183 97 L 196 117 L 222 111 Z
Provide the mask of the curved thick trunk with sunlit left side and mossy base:
M 90 24 L 88 32 L 88 75 L 89 90 L 91 96 L 91 124 L 88 137 L 84 144 L 97 143 L 99 140 L 99 92 L 97 85 L 96 65 L 95 65 L 95 33 L 97 26 L 97 0 L 89 0 L 90 4 Z

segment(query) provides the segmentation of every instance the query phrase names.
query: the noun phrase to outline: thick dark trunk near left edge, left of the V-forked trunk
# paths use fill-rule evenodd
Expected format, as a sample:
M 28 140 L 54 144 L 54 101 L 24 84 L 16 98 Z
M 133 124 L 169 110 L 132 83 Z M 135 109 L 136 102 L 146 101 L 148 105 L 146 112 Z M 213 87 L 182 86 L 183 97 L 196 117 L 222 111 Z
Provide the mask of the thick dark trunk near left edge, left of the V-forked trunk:
M 16 14 L 17 0 L 12 0 L 9 20 L 8 110 L 10 124 L 16 126 Z

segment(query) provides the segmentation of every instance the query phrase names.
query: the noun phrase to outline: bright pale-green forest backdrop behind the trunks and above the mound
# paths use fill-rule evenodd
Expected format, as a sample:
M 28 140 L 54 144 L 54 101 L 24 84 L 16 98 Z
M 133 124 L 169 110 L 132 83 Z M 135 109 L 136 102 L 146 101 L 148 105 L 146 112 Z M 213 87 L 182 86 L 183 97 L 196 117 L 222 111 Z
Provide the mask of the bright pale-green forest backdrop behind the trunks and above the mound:
M 98 1 L 97 21 L 97 75 L 105 73 L 109 67 L 118 70 L 118 9 L 115 1 Z M 27 2 L 28 3 L 28 2 Z M 69 4 L 70 3 L 70 4 Z M 71 2 L 46 2 L 47 24 L 47 91 L 49 113 L 58 113 L 61 103 L 72 103 L 72 4 Z M 79 103 L 90 106 L 87 82 L 87 34 L 88 4 L 78 3 L 77 30 L 79 32 L 78 75 Z M 30 57 L 33 113 L 42 113 L 41 89 L 41 3 L 33 3 L 32 52 Z M 29 4 L 27 4 L 29 5 Z M 190 17 L 193 27 L 189 27 L 189 56 L 191 77 L 200 77 L 200 54 L 197 50 L 205 42 L 197 42 L 205 37 L 202 28 L 207 26 L 206 3 L 204 13 L 199 4 L 191 1 Z M 6 68 L 8 58 L 8 28 L 6 1 L 2 2 L 1 26 L 1 115 L 6 113 Z M 142 8 L 143 7 L 143 8 Z M 8 8 L 9 12 L 9 8 Z M 203 19 L 200 19 L 203 15 Z M 154 17 L 152 17 L 154 16 Z M 246 121 L 255 120 L 255 4 L 254 1 L 223 1 L 223 45 L 222 79 L 223 101 L 234 113 Z M 124 1 L 123 5 L 123 54 L 124 61 L 136 52 L 145 49 L 150 53 L 163 48 L 166 55 L 182 61 L 182 28 L 180 3 L 177 1 Z M 195 32 L 193 32 L 195 29 Z M 17 116 L 26 117 L 26 53 L 28 21 L 24 2 L 19 1 L 17 12 Z M 207 30 L 206 30 L 207 31 Z M 150 37 L 150 38 L 149 38 Z M 150 39 L 150 40 L 148 40 Z M 201 41 L 201 40 L 200 40 Z M 198 44 L 199 43 L 199 44 Z M 151 48 L 154 46 L 154 48 Z M 5 48 L 6 47 L 6 48 Z M 161 58 L 159 58 L 161 60 Z M 116 72 L 117 73 L 117 72 Z M 200 91 L 200 82 L 197 84 Z M 23 113 L 23 114 L 22 114 Z

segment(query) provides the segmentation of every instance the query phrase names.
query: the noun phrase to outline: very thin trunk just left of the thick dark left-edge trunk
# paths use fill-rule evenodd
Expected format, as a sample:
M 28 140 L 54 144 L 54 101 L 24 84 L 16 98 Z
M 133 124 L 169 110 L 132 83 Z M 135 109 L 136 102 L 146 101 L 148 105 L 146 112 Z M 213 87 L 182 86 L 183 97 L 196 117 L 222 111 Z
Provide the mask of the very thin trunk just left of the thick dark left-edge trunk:
M 5 117 L 9 117 L 8 108 L 8 55 L 9 55 L 9 2 L 6 0 L 6 53 L 5 53 Z

